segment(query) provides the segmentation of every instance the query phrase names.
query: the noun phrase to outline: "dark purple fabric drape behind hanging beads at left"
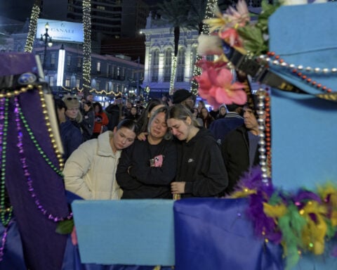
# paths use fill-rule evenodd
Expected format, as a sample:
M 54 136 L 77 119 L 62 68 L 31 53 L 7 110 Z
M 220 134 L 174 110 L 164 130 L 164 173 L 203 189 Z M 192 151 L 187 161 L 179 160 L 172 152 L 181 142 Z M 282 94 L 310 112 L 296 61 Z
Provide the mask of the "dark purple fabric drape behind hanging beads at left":
M 20 94 L 19 103 L 39 145 L 53 165 L 58 167 L 38 91 L 30 90 Z M 8 113 L 6 188 L 18 221 L 25 262 L 27 268 L 31 270 L 59 270 L 62 266 L 67 236 L 55 233 L 56 223 L 41 213 L 28 191 L 27 178 L 23 173 L 18 153 L 18 130 L 13 110 L 11 98 Z M 33 180 L 34 193 L 37 194 L 40 204 L 56 217 L 67 217 L 68 207 L 62 177 L 47 165 L 23 125 L 22 135 L 26 163 Z

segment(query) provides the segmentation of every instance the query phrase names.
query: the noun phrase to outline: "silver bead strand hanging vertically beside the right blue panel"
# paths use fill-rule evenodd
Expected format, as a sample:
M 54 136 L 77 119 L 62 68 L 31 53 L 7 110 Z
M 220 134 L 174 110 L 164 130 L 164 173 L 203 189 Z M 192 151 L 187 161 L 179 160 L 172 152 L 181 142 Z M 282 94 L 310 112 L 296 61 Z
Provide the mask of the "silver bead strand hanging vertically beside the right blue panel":
M 268 167 L 267 167 L 267 155 L 265 149 L 265 111 L 264 111 L 264 100 L 265 100 L 265 89 L 260 87 L 257 92 L 258 97 L 258 108 L 256 113 L 258 114 L 258 130 L 259 130 L 259 140 L 258 140 L 258 152 L 260 153 L 260 167 L 262 171 L 262 182 L 265 185 L 269 184 L 268 180 Z

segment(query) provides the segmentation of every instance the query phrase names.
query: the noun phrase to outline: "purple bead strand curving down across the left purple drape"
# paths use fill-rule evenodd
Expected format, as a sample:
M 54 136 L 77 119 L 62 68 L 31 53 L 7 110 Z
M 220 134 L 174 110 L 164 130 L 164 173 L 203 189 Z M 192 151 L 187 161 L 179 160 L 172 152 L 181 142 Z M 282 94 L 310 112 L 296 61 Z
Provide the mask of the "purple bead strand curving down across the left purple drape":
M 19 148 L 19 153 L 20 153 L 20 162 L 22 165 L 22 169 L 25 175 L 25 178 L 27 180 L 27 185 L 28 185 L 28 191 L 30 195 L 32 196 L 32 199 L 34 200 L 35 205 L 37 205 L 37 208 L 41 211 L 42 214 L 44 214 L 48 219 L 51 219 L 55 222 L 62 221 L 65 219 L 72 219 L 72 212 L 67 215 L 67 217 L 56 217 L 55 215 L 49 213 L 43 205 L 41 205 L 39 198 L 37 197 L 37 193 L 34 191 L 34 186 L 33 186 L 33 180 L 30 176 L 29 170 L 28 170 L 28 165 L 27 165 L 27 158 L 25 156 L 25 150 L 23 149 L 23 135 L 22 135 L 22 128 L 20 124 L 20 114 L 19 114 L 19 103 L 18 103 L 18 97 L 15 96 L 14 98 L 14 115 L 15 115 L 15 123 L 16 123 L 16 129 L 18 131 L 18 148 Z

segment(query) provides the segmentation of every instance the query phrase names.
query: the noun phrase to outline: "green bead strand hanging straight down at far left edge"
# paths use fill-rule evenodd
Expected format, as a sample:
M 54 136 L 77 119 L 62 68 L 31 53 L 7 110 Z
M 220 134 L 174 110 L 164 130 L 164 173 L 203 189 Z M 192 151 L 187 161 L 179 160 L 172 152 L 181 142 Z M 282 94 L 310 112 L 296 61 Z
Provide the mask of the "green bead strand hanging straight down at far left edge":
M 13 208 L 6 209 L 6 152 L 7 152 L 7 131 L 8 131 L 8 101 L 6 98 L 0 98 L 0 163 L 1 163 L 1 201 L 0 201 L 0 219 L 6 227 L 12 218 Z

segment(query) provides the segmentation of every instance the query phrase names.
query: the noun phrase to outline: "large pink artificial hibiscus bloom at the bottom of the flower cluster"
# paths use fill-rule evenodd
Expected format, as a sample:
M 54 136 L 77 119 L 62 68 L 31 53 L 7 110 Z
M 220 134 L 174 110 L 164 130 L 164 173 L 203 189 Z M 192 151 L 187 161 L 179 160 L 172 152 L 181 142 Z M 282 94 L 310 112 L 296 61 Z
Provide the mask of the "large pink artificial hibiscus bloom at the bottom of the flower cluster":
M 232 73 L 224 68 L 223 63 L 203 60 L 198 65 L 203 70 L 201 75 L 195 77 L 199 83 L 199 96 L 205 98 L 214 108 L 220 107 L 223 103 L 239 105 L 246 103 L 244 84 L 240 82 L 232 84 Z

